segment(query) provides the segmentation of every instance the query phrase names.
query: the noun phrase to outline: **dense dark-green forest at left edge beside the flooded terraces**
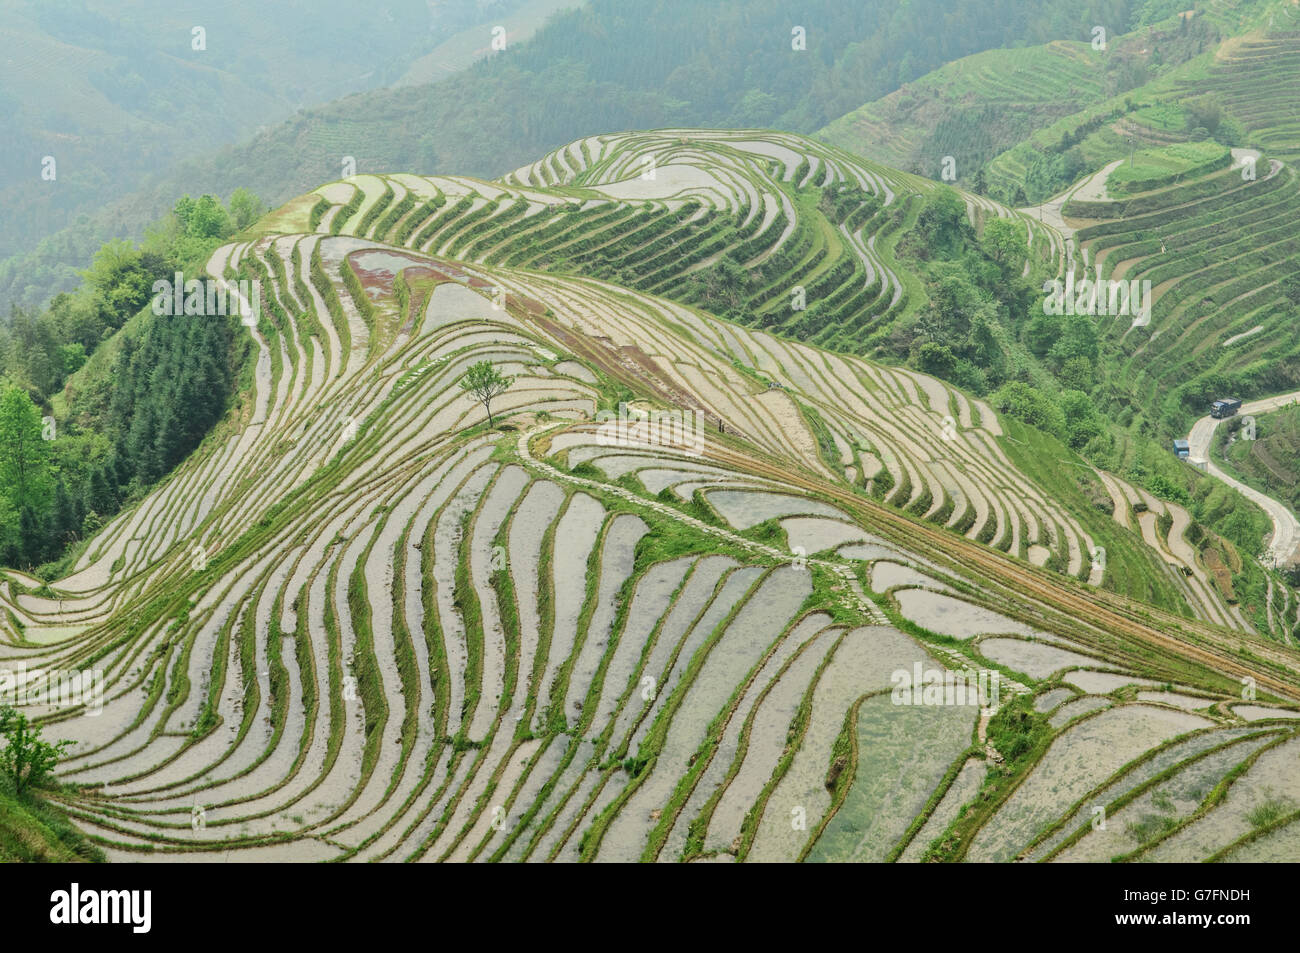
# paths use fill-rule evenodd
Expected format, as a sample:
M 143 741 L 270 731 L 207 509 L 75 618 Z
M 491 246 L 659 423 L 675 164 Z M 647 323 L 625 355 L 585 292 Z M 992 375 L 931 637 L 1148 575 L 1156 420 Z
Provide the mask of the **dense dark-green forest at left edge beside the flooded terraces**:
M 153 282 L 195 274 L 264 208 L 183 196 L 136 247 L 105 244 L 82 286 L 0 326 L 0 562 L 57 560 L 181 463 L 226 411 L 237 319 L 155 316 Z

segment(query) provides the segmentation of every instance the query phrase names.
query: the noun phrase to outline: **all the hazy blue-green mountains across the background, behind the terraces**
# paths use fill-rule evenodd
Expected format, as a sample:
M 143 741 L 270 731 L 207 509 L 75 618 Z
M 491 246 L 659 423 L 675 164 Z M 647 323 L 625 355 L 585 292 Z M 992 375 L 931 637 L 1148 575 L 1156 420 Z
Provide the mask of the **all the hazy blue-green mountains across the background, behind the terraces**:
M 222 20 L 213 21 L 211 29 L 212 46 L 205 51 L 211 56 L 199 62 L 222 64 L 221 69 L 237 77 L 234 83 L 256 83 L 256 95 L 235 87 L 247 98 L 243 105 L 234 94 L 226 98 L 214 90 L 216 79 L 198 69 L 198 53 L 188 48 L 190 21 L 196 17 L 183 7 L 161 21 L 155 18 L 147 29 L 105 31 L 127 36 L 134 46 L 122 40 L 94 57 L 78 57 L 103 60 L 104 70 L 121 74 L 113 79 L 116 74 L 105 73 L 103 82 L 112 85 L 122 104 L 101 108 L 103 94 L 91 82 L 99 75 L 94 70 L 81 86 L 55 83 L 55 77 L 48 77 L 32 88 L 55 83 L 58 95 L 68 99 L 55 114 L 68 118 L 48 130 L 43 124 L 49 113 L 39 125 L 35 118 L 20 120 L 16 144 L 27 146 L 13 152 L 6 164 L 6 181 L 14 186 L 13 204 L 6 202 L 6 207 L 14 209 L 22 241 L 48 238 L 35 252 L 30 241 L 27 248 L 0 247 L 0 256 L 25 255 L 21 263 L 0 263 L 0 313 L 6 316 L 10 303 L 39 307 L 55 291 L 66 290 L 75 281 L 75 269 L 84 267 L 100 242 L 139 238 L 144 226 L 185 192 L 225 198 L 243 187 L 277 204 L 338 177 L 344 156 L 355 157 L 359 170 L 491 177 L 573 138 L 611 129 L 688 124 L 811 133 L 950 59 L 989 47 L 1046 42 L 1078 33 L 1080 22 L 1127 23 L 1131 16 L 1130 0 L 1089 0 L 1083 8 L 1050 0 L 1032 10 L 1009 0 L 979 0 L 961 9 L 937 0 L 900 9 L 884 0 L 816 0 L 805 7 L 811 31 L 809 56 L 788 57 L 781 51 L 790 46 L 789 17 L 774 0 L 662 1 L 634 9 L 614 0 L 585 7 L 573 0 L 563 7 L 581 10 L 556 16 L 538 36 L 519 42 L 558 7 L 562 4 L 536 0 L 458 0 L 438 4 L 429 13 L 421 3 L 404 3 L 361 14 L 354 5 L 341 4 L 338 10 L 325 7 L 306 17 L 311 26 L 304 34 L 294 27 L 303 20 L 294 7 L 281 5 L 256 31 L 240 31 L 239 23 L 263 17 L 252 7 L 226 5 Z M 49 29 L 69 21 L 70 35 L 90 34 L 83 43 L 100 42 L 86 26 L 98 22 L 92 9 L 40 9 L 62 10 L 58 17 L 40 14 L 51 21 Z M 39 18 L 16 22 L 20 29 L 29 23 L 14 36 L 16 44 L 26 46 L 29 34 L 44 35 Z M 451 56 L 443 59 L 468 65 L 467 52 L 494 52 L 491 27 L 497 23 L 508 27 L 506 49 L 464 75 L 439 78 L 416 62 L 426 44 L 452 36 L 445 48 Z M 289 33 L 289 49 L 302 51 L 298 60 L 257 56 L 259 43 L 280 49 L 281 36 Z M 1086 36 L 1087 31 L 1079 34 Z M 235 44 L 238 51 L 231 49 Z M 155 61 L 157 66 L 142 65 Z M 36 70 L 21 68 L 20 61 L 12 69 L 23 77 Z M 161 70 L 152 83 L 165 87 L 168 99 L 139 92 L 136 99 L 127 96 L 127 90 L 144 82 L 131 77 L 143 75 L 139 70 L 144 69 Z M 172 75 L 168 70 L 182 78 L 196 73 L 205 85 L 165 79 Z M 42 74 L 36 70 L 35 75 Z M 434 82 L 411 85 L 422 79 Z M 394 81 L 396 88 L 318 105 Z M 348 88 L 338 88 L 341 83 Z M 222 103 L 218 109 L 208 101 L 213 95 Z M 281 121 L 289 113 L 292 116 Z M 99 117 L 94 122 L 92 114 Z M 136 127 L 151 124 L 144 126 L 151 131 L 143 137 L 133 133 L 135 139 L 94 159 L 94 174 L 65 163 L 66 187 L 57 192 L 38 187 L 48 185 L 35 178 L 40 156 L 53 151 L 42 144 L 42 137 L 68 142 L 69 135 L 81 134 L 81 124 L 88 124 L 87 134 L 116 134 L 117 125 L 127 120 Z M 109 122 L 117 125 L 105 125 Z M 260 126 L 266 126 L 265 131 L 246 138 Z M 107 147 L 103 139 L 95 142 Z M 196 159 L 169 170 L 168 159 L 187 156 Z M 122 174 L 108 178 L 117 174 L 114 168 Z M 138 191 L 142 172 L 157 172 L 161 179 Z M 108 183 L 116 190 L 110 204 L 103 191 Z M 109 207 L 96 213 L 95 200 Z M 90 213 L 88 222 L 60 231 L 66 216 L 82 211 Z

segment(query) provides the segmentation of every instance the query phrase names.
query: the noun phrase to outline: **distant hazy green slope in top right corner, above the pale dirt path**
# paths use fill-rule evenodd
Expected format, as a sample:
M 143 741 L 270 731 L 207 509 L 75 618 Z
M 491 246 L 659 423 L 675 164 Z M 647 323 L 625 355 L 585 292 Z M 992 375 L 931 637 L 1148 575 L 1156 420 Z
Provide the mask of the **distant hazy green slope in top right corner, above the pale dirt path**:
M 1286 159 L 1295 122 L 1277 79 L 1295 56 L 1294 5 L 1232 0 L 1171 13 L 1148 4 L 1132 29 L 1109 21 L 1104 47 L 1079 31 L 1076 42 L 953 60 L 816 135 L 936 179 L 950 157 L 957 182 L 1013 204 L 1041 202 L 1135 144 L 1217 137 Z

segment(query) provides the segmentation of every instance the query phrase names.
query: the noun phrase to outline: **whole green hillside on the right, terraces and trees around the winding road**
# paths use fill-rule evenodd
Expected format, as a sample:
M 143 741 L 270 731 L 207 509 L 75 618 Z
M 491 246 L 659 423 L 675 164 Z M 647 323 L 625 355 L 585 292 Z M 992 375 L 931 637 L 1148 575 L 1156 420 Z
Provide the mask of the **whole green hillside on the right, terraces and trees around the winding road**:
M 1023 304 L 1010 308 L 1026 319 L 1018 337 L 1039 373 L 1022 369 L 1022 380 L 1046 394 L 1087 394 L 1108 433 L 1082 452 L 1123 472 L 1135 489 L 1191 510 L 1190 538 L 1202 563 L 1219 567 L 1221 581 L 1222 567 L 1238 560 L 1226 549 L 1208 553 L 1196 524 L 1260 554 L 1268 549 L 1262 511 L 1180 464 L 1169 447 L 1218 397 L 1269 399 L 1297 386 L 1288 329 L 1300 291 L 1287 277 L 1295 250 L 1278 230 L 1296 194 L 1295 117 L 1279 78 L 1296 55 L 1297 25 L 1295 5 L 1275 0 L 1176 13 L 1150 4 L 1131 31 L 1108 31 L 1106 49 L 1076 44 L 1078 62 L 1065 44 L 966 57 L 820 134 L 936 178 L 950 160 L 962 187 L 1010 204 L 1043 202 L 1019 211 L 1058 233 L 1063 272 L 1075 272 L 1076 282 L 1084 270 L 1089 280 L 1149 282 L 1149 322 L 1112 316 L 1105 304 L 1095 316 L 1084 373 L 1057 351 L 1069 317 L 1041 313 L 1041 298 L 1028 302 L 1028 313 Z M 1046 121 L 1071 104 L 1071 114 Z M 1032 116 L 1044 120 L 1039 129 L 1011 144 L 1015 122 Z M 991 159 L 992 139 L 1005 151 Z M 1230 598 L 1253 624 L 1273 628 L 1270 593 L 1282 580 L 1266 579 L 1253 559 L 1243 566 L 1221 588 L 1235 589 Z

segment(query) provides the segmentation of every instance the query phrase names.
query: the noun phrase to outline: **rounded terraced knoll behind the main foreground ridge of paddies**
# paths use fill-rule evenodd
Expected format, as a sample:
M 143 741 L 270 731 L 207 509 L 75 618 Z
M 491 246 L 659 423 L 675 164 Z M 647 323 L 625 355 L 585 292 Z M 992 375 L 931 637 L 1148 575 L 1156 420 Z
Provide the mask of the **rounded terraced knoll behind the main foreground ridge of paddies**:
M 874 204 L 832 221 L 814 186 Z M 933 187 L 802 137 L 671 129 L 581 139 L 498 182 L 355 176 L 309 199 L 318 231 L 614 280 L 861 352 L 923 300 L 893 246 Z M 972 218 L 1017 215 L 976 195 L 967 205 Z M 1039 254 L 1060 254 L 1044 226 L 1023 221 Z M 744 264 L 744 289 L 710 285 L 724 256 Z

